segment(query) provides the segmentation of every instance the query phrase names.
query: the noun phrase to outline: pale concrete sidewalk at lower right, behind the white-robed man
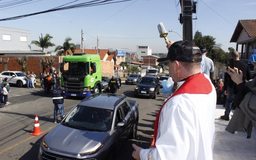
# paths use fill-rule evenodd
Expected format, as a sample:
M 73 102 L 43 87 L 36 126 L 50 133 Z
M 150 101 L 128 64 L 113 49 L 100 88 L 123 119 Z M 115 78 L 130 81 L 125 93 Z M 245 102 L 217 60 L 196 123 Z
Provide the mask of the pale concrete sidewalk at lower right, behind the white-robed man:
M 225 108 L 222 105 L 216 105 L 215 109 L 215 143 L 213 150 L 213 159 L 256 159 L 256 134 L 252 129 L 252 136 L 247 139 L 244 132 L 235 132 L 231 134 L 225 131 L 229 121 L 220 119 L 224 114 Z M 231 110 L 234 113 L 234 110 Z M 233 113 L 230 113 L 232 116 Z M 231 118 L 231 117 L 230 117 Z

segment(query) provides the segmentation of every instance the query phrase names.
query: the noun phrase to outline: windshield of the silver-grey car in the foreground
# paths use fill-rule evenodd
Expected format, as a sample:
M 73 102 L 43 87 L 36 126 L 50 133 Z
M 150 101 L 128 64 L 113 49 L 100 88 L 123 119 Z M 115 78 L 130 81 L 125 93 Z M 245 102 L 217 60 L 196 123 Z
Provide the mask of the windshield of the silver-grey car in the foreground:
M 67 116 L 63 125 L 95 132 L 111 129 L 113 110 L 77 105 Z

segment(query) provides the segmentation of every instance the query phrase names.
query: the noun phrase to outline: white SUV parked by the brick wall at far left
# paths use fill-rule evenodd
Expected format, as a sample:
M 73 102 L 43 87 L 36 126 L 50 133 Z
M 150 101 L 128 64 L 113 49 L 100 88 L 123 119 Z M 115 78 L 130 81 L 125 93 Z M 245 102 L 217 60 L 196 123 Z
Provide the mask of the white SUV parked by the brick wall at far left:
M 0 73 L 0 77 L 8 78 L 9 84 L 16 84 L 18 87 L 22 87 L 23 85 L 27 84 L 26 82 L 26 74 L 19 71 L 4 71 Z

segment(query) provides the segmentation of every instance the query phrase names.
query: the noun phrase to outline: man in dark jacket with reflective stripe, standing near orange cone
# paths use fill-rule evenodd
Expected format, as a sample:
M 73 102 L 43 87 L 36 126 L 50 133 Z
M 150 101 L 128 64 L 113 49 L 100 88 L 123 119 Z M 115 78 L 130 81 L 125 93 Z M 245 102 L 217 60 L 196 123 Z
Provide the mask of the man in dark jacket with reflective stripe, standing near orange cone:
M 63 102 L 65 94 L 64 92 L 60 89 L 60 85 L 57 85 L 57 89 L 52 92 L 52 102 L 54 103 L 54 123 L 57 123 L 58 117 L 57 117 L 57 112 L 59 110 L 60 115 L 64 114 L 64 107 L 63 107 Z

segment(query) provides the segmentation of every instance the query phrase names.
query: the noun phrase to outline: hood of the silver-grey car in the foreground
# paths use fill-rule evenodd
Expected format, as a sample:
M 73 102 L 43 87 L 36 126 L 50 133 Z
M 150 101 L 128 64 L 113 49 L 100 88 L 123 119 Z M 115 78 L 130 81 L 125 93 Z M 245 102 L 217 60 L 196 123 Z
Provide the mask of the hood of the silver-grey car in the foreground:
M 44 141 L 49 148 L 79 154 L 94 151 L 108 138 L 108 132 L 84 131 L 58 124 Z

